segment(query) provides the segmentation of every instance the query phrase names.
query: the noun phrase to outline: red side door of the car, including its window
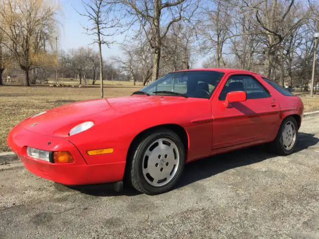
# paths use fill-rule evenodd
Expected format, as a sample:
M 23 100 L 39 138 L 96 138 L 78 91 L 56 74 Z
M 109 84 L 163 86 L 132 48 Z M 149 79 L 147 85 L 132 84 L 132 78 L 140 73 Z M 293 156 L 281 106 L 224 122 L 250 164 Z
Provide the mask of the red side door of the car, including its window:
M 232 91 L 245 91 L 247 100 L 227 108 L 225 98 Z M 279 121 L 279 106 L 254 74 L 231 74 L 212 100 L 212 149 L 227 149 L 263 142 Z

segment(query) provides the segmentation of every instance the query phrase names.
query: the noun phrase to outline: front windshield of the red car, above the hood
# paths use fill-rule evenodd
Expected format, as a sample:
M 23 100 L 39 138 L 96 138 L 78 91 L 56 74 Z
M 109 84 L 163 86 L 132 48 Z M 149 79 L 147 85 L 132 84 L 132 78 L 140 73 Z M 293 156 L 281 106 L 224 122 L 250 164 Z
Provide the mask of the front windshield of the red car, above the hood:
M 173 72 L 140 91 L 150 95 L 209 99 L 223 75 L 224 73 L 217 71 Z

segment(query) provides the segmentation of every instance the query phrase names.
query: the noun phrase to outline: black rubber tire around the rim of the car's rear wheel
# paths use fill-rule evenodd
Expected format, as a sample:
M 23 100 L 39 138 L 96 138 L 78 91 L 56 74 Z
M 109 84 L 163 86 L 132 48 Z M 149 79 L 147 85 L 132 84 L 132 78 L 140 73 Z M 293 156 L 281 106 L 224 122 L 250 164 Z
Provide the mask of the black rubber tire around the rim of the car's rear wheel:
M 283 129 L 284 129 L 286 123 L 289 121 L 294 124 L 294 127 L 296 129 L 296 139 L 295 139 L 295 142 L 294 142 L 294 145 L 292 146 L 292 148 L 287 150 L 283 145 L 282 134 L 283 134 Z M 296 144 L 297 144 L 297 140 L 298 140 L 298 124 L 297 124 L 297 121 L 294 117 L 289 116 L 283 120 L 282 124 L 279 127 L 279 130 L 278 130 L 278 133 L 277 133 L 275 140 L 270 143 L 270 147 L 271 147 L 272 151 L 277 153 L 277 154 L 289 155 L 289 154 L 292 154 L 294 152 Z

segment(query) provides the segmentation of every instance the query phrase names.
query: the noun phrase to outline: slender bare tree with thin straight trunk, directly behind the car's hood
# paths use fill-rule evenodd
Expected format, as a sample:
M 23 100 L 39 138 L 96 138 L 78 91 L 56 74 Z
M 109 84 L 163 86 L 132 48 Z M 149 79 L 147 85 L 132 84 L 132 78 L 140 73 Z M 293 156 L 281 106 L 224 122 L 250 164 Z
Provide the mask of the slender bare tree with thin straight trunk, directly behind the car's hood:
M 99 47 L 100 59 L 100 82 L 101 82 L 101 97 L 103 98 L 103 58 L 102 45 L 108 47 L 114 43 L 109 37 L 115 34 L 114 27 L 118 26 L 119 19 L 114 15 L 114 4 L 106 0 L 89 0 L 89 2 L 82 1 L 85 12 L 80 15 L 85 16 L 92 23 L 89 26 L 83 26 L 86 34 L 93 35 L 93 43 L 97 43 Z

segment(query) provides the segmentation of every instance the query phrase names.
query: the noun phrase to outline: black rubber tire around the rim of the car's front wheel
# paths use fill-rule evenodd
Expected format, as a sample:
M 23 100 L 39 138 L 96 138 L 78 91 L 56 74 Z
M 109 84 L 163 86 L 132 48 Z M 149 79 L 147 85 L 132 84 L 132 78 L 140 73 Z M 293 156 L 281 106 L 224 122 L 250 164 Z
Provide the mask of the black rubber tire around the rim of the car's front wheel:
M 175 175 L 167 184 L 163 186 L 153 186 L 144 178 L 142 171 L 143 157 L 151 143 L 160 138 L 168 138 L 175 143 L 178 148 L 180 161 Z M 152 131 L 142 136 L 140 140 L 136 142 L 132 154 L 129 155 L 128 163 L 127 179 L 136 190 L 148 195 L 161 194 L 171 190 L 180 178 L 185 165 L 185 148 L 179 136 L 173 131 L 169 129 Z

